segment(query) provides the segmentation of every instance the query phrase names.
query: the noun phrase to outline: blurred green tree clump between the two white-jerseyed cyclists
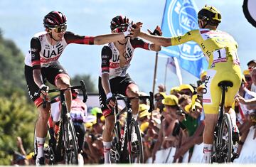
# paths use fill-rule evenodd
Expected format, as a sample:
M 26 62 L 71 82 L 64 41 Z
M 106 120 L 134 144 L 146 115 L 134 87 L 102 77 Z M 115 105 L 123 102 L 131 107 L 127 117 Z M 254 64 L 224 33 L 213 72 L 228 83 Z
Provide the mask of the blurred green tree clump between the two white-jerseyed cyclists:
M 71 78 L 70 82 L 72 85 L 80 85 L 80 80 L 85 81 L 87 92 L 96 92 L 94 82 L 90 75 L 75 75 L 75 77 Z

